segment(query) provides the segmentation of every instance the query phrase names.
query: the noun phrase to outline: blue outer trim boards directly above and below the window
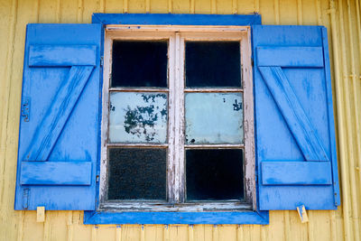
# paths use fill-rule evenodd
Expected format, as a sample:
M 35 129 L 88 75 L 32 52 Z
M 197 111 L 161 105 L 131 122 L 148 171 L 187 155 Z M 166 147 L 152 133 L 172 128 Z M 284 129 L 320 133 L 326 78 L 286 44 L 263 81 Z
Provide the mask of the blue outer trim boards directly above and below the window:
M 93 14 L 92 23 L 171 25 L 254 25 L 260 14 Z M 103 46 L 103 43 L 102 43 Z M 100 138 L 100 134 L 99 134 Z M 99 146 L 100 149 L 100 146 Z M 100 150 L 98 151 L 100 153 Z M 100 157 L 99 159 L 100 160 Z M 97 173 L 100 162 L 97 162 Z M 258 191 L 258 190 L 257 190 Z M 99 195 L 97 185 L 97 197 Z M 98 200 L 97 200 L 98 206 Z M 258 207 L 258 202 L 257 202 Z M 268 211 L 229 212 L 110 212 L 85 211 L 84 224 L 269 224 Z

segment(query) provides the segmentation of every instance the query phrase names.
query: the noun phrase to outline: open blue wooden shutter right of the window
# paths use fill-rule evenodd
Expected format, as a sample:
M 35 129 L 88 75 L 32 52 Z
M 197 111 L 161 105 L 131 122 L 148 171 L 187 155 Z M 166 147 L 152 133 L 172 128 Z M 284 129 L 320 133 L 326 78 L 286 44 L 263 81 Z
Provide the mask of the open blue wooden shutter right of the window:
M 261 210 L 340 203 L 327 31 L 253 27 Z

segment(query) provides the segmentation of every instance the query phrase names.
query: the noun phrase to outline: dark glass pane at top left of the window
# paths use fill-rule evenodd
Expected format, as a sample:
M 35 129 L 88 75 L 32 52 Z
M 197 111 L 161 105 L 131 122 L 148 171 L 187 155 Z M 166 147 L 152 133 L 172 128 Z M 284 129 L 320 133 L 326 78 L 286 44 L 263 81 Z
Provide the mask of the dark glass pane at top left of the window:
M 168 42 L 113 42 L 112 87 L 167 87 Z

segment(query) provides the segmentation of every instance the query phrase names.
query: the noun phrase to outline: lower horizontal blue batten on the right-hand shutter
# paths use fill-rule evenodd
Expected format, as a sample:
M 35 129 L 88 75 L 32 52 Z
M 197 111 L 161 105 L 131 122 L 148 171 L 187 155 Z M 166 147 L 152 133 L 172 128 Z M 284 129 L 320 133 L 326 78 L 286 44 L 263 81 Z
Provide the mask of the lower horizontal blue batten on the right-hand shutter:
M 331 185 L 330 162 L 262 162 L 263 185 Z

